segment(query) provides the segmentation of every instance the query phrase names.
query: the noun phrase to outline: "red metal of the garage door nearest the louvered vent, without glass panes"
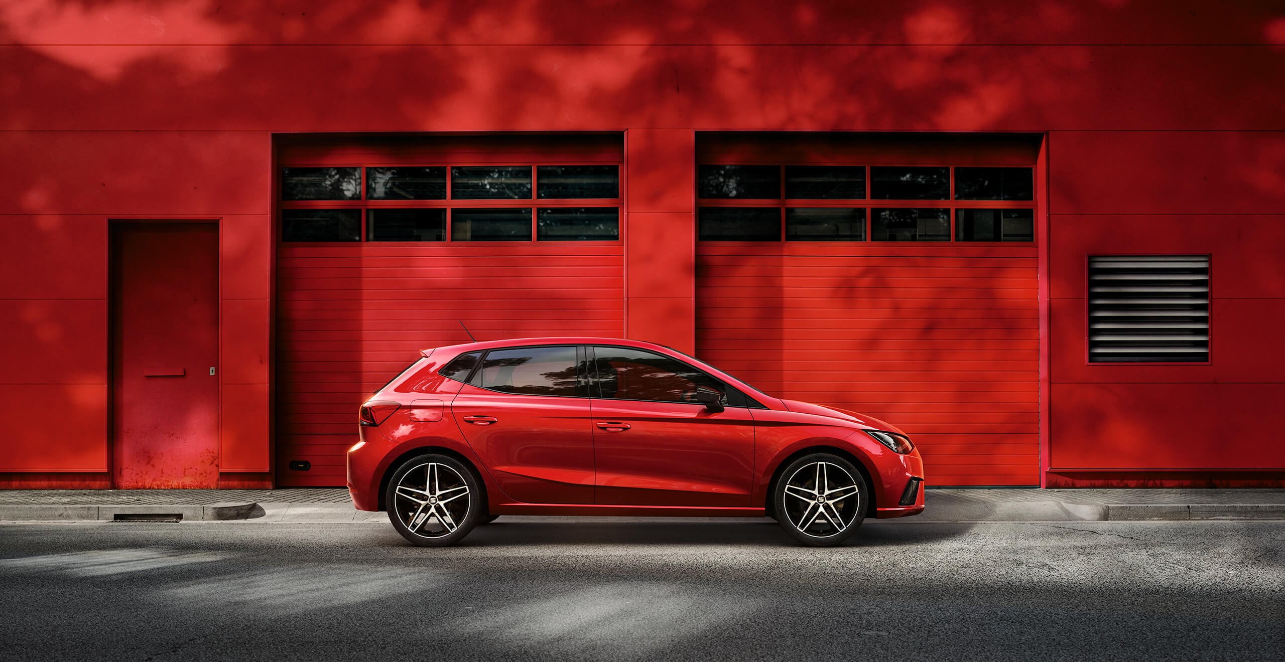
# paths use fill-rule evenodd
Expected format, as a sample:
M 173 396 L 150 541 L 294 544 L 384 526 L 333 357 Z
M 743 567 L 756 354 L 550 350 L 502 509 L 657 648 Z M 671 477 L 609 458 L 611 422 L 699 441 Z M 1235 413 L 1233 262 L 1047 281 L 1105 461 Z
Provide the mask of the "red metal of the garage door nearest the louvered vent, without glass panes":
M 1034 163 L 1033 150 L 1023 149 L 969 160 L 971 151 L 964 148 L 934 151 L 921 145 L 892 155 L 880 155 L 875 146 L 855 158 L 844 158 L 843 149 L 754 148 L 707 144 L 702 163 L 815 163 L 808 159 L 817 153 L 828 163 L 849 164 Z M 875 167 L 867 166 L 865 176 L 878 176 Z M 781 168 L 785 177 L 785 166 Z M 825 174 L 799 172 L 799 177 Z M 707 168 L 705 177 L 722 177 L 713 182 L 721 185 L 731 176 Z M 953 194 L 946 195 L 944 200 L 901 204 L 951 212 L 957 205 L 993 204 L 956 201 Z M 892 230 L 879 209 L 898 203 L 879 199 L 849 201 L 864 209 L 864 218 L 839 231 L 834 230 L 833 210 L 813 214 L 820 221 L 812 225 L 789 216 L 792 207 L 833 201 L 794 201 L 783 194 L 776 204 L 783 208 L 785 226 L 780 240 L 738 241 L 723 239 L 731 236 L 729 218 L 753 217 L 708 209 L 770 205 L 702 199 L 698 355 L 768 394 L 852 409 L 902 427 L 919 445 L 933 485 L 1038 485 L 1040 237 L 1032 227 L 1032 236 L 1013 241 L 1014 235 L 1027 231 L 1033 199 L 1022 203 L 1028 209 L 1007 214 L 1022 217 L 1020 228 L 1004 230 L 1009 236 L 998 228 L 996 236 L 983 236 L 997 241 L 974 241 L 991 228 L 961 228 L 953 213 L 941 230 L 948 236 L 930 237 L 938 241 L 888 241 Z M 767 232 L 770 214 L 761 213 Z M 973 213 L 964 222 L 975 218 Z M 857 226 L 862 226 L 860 231 Z M 920 221 L 917 230 L 924 227 Z M 828 241 L 786 239 L 801 232 L 849 233 Z M 961 233 L 969 240 L 960 240 Z

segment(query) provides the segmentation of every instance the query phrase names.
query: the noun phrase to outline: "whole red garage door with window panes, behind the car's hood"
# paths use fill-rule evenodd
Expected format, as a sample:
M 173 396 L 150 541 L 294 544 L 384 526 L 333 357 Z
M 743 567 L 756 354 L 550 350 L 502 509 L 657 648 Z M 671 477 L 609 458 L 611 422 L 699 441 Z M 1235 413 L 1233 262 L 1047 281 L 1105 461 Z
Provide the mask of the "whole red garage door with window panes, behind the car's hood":
M 698 145 L 698 355 L 905 429 L 932 484 L 1037 485 L 1038 142 Z

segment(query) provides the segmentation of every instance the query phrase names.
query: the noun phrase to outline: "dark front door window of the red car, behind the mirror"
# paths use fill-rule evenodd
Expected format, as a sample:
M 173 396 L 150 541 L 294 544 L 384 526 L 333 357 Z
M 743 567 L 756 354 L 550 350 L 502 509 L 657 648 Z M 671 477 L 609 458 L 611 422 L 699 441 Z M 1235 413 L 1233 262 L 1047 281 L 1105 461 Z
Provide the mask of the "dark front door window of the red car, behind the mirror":
M 617 400 L 695 403 L 696 386 L 727 390 L 718 380 L 681 361 L 626 348 L 595 346 L 591 380 L 590 394 Z

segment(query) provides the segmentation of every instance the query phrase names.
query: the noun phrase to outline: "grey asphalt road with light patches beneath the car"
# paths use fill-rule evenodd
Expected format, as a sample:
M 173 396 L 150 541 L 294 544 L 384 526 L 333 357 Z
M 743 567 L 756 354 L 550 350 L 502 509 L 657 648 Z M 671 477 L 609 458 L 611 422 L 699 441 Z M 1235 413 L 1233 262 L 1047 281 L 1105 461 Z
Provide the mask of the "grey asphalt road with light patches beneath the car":
M 0 659 L 1285 659 L 1285 522 L 0 526 Z

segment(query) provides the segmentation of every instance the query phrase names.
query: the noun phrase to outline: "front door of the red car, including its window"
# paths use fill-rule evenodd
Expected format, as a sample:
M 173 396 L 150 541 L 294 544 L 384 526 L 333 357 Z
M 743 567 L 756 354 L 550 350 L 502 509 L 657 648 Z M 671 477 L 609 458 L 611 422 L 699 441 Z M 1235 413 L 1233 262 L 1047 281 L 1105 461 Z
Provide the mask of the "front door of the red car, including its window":
M 590 352 L 596 503 L 750 505 L 754 420 L 744 395 L 667 355 Z M 696 402 L 698 386 L 723 393 L 723 411 Z

